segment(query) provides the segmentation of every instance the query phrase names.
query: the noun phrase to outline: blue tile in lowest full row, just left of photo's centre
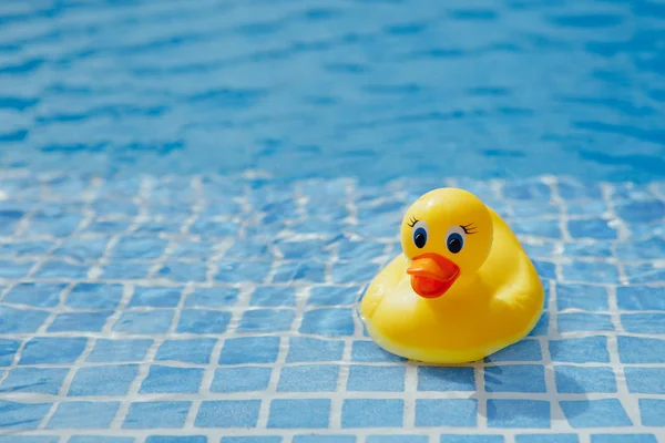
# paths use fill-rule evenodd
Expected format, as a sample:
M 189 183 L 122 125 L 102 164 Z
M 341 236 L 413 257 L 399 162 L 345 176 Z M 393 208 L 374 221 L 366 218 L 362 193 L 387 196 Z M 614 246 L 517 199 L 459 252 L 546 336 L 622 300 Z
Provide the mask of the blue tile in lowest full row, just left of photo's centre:
M 270 402 L 268 427 L 326 429 L 328 427 L 329 416 L 329 399 L 276 399 Z

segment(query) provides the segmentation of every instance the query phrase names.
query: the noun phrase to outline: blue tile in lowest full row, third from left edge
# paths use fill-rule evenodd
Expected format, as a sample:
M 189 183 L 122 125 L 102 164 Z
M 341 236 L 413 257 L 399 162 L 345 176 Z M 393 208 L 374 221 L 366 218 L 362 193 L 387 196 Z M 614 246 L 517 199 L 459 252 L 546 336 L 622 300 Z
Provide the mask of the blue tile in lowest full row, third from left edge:
M 123 429 L 183 427 L 188 401 L 149 401 L 130 404 Z

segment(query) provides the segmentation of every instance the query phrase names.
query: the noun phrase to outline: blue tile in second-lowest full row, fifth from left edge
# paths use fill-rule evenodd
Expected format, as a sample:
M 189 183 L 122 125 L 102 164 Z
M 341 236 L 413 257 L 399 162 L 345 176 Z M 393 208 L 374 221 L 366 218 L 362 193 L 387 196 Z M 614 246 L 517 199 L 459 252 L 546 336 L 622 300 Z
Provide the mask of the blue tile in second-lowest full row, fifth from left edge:
M 339 367 L 310 364 L 282 369 L 277 391 L 280 392 L 332 392 L 337 389 Z

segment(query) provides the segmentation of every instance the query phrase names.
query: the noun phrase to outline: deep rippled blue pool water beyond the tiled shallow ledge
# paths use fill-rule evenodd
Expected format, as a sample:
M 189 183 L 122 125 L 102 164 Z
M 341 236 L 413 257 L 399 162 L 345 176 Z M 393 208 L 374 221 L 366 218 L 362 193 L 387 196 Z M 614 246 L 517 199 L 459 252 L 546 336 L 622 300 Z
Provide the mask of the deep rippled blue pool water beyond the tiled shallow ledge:
M 0 166 L 665 175 L 658 1 L 0 6 Z

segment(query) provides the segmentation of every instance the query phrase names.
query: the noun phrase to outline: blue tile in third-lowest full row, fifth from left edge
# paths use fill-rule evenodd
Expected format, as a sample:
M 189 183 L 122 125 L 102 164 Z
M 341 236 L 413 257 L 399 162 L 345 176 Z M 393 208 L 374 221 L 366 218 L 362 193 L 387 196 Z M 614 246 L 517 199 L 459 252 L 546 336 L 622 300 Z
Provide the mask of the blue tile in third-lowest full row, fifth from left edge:
M 219 364 L 273 363 L 279 352 L 279 337 L 239 337 L 227 339 Z

